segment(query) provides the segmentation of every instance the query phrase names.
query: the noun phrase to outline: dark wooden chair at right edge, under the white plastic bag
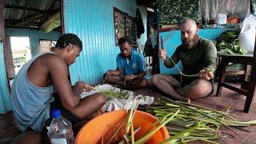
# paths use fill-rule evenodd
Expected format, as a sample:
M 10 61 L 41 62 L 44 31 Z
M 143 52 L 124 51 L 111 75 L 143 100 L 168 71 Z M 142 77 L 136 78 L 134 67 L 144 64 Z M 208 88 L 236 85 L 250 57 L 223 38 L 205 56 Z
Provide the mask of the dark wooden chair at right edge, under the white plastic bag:
M 254 54 L 248 55 L 219 55 L 220 60 L 220 71 L 219 71 L 219 80 L 217 88 L 217 96 L 222 94 L 222 87 L 227 89 L 234 90 L 238 94 L 243 94 L 246 96 L 246 103 L 244 106 L 244 111 L 246 113 L 250 110 L 250 105 L 254 97 L 254 90 L 256 85 L 256 42 L 254 44 Z M 230 74 L 226 71 L 226 66 L 229 62 L 245 64 L 245 75 L 250 74 L 248 78 L 244 77 L 244 81 L 241 84 L 241 88 L 230 85 L 229 83 L 224 82 L 225 76 Z M 251 66 L 250 73 L 248 72 L 248 66 Z

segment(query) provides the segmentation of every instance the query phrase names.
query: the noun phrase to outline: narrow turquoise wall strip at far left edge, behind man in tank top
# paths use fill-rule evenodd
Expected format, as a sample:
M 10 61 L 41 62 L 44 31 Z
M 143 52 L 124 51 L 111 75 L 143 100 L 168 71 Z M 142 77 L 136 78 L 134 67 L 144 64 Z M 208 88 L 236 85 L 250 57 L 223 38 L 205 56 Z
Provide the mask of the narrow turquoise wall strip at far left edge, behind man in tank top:
M 11 110 L 10 92 L 7 85 L 6 65 L 3 54 L 3 44 L 0 43 L 0 114 Z

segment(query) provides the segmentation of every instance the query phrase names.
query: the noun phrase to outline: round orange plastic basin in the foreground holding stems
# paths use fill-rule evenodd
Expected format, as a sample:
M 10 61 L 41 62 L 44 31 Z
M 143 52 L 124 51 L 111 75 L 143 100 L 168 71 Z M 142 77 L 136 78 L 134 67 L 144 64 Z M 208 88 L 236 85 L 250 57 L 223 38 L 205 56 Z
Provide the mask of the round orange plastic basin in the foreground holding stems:
M 77 137 L 75 138 L 75 144 L 102 143 L 102 139 L 104 142 L 108 142 L 110 137 L 116 131 L 114 126 L 119 126 L 125 116 L 126 110 L 116 110 L 102 114 L 90 120 L 90 122 L 87 122 L 86 125 L 83 126 L 79 131 Z M 141 126 L 141 130 L 135 134 L 135 141 L 138 140 L 142 134 L 145 134 L 146 130 L 151 128 L 156 121 L 157 118 L 155 118 L 153 115 L 137 110 L 134 115 L 133 124 L 134 129 L 138 126 Z M 122 126 L 121 133 L 124 132 L 125 126 L 126 123 Z M 121 138 L 121 133 L 118 133 L 116 137 Z M 166 138 L 169 138 L 169 133 L 166 130 L 166 126 L 163 126 L 146 143 L 158 144 Z

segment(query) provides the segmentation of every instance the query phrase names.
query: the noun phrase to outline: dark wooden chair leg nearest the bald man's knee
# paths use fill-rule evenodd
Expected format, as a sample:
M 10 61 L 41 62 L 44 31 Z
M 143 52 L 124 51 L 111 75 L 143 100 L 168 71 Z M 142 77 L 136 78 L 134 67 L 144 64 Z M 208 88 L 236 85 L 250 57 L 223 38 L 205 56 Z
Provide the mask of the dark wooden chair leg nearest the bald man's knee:
M 219 70 L 219 79 L 218 79 L 218 87 L 217 87 L 217 93 L 216 96 L 219 97 L 222 94 L 222 82 L 225 80 L 226 76 L 226 66 L 228 62 L 223 62 L 224 60 L 222 59 L 221 65 L 220 65 L 220 70 Z

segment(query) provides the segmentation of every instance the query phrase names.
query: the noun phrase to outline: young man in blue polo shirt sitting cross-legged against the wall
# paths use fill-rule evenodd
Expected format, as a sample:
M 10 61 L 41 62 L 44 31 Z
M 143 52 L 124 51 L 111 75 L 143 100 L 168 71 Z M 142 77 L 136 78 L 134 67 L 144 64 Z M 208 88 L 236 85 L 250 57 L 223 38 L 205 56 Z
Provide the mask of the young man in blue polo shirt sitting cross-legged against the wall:
M 108 70 L 103 78 L 106 82 L 117 84 L 126 89 L 138 89 L 147 86 L 146 61 L 142 54 L 133 51 L 130 38 L 119 38 L 118 46 L 121 53 L 118 54 L 117 70 Z

